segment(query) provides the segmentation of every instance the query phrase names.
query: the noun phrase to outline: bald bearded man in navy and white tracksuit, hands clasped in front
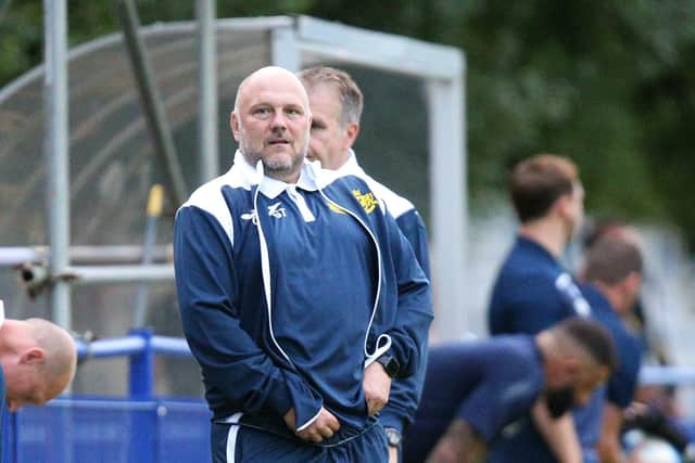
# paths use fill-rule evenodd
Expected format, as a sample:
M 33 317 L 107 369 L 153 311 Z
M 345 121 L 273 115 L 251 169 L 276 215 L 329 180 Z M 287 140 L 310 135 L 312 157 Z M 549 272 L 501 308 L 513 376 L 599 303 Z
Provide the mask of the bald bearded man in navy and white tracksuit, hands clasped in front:
M 251 74 L 231 169 L 177 213 L 179 309 L 215 463 L 388 461 L 375 415 L 431 322 L 429 282 L 378 196 L 305 159 L 311 124 L 292 73 Z

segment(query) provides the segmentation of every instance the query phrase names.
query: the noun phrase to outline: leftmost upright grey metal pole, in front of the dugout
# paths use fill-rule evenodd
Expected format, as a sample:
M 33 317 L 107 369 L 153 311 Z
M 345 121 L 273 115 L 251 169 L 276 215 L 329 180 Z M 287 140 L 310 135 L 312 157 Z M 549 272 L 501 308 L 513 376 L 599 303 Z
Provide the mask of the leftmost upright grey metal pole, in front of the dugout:
M 47 209 L 50 271 L 60 274 L 70 265 L 70 156 L 67 115 L 67 10 L 65 0 L 43 0 L 46 78 L 46 137 L 49 166 Z M 51 291 L 53 321 L 70 330 L 70 283 L 56 281 Z

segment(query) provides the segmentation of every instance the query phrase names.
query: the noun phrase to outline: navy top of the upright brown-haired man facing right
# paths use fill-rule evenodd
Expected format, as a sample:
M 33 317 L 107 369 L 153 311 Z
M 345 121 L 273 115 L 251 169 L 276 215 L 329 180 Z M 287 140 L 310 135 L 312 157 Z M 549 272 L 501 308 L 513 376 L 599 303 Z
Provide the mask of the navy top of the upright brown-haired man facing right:
M 571 275 L 553 255 L 518 236 L 493 286 L 490 334 L 535 334 L 567 317 L 590 312 Z

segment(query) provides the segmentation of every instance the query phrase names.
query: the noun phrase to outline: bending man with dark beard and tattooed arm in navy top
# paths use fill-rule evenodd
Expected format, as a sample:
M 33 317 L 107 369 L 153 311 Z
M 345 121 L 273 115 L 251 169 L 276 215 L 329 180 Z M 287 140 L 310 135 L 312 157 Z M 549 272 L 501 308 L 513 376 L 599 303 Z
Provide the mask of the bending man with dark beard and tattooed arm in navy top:
M 579 317 L 535 336 L 432 347 L 404 461 L 482 462 L 488 446 L 540 395 L 569 389 L 572 402 L 585 403 L 615 365 L 609 333 Z

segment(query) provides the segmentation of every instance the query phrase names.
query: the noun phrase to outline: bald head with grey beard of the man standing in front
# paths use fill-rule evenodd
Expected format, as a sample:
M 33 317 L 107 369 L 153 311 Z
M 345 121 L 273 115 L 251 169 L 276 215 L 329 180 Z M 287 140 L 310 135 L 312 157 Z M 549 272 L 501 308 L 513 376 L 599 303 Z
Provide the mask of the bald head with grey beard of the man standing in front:
M 293 183 L 308 147 L 311 120 L 308 97 L 299 78 L 268 66 L 239 85 L 230 126 L 250 165 L 262 160 L 266 175 Z

